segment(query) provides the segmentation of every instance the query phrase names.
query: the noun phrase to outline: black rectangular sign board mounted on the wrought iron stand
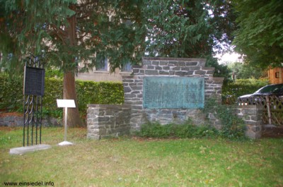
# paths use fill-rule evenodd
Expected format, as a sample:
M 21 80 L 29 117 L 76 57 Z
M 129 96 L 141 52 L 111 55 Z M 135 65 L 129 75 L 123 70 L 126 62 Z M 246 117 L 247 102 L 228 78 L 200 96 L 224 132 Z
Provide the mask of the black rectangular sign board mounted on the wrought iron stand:
M 44 95 L 45 69 L 25 66 L 24 95 Z

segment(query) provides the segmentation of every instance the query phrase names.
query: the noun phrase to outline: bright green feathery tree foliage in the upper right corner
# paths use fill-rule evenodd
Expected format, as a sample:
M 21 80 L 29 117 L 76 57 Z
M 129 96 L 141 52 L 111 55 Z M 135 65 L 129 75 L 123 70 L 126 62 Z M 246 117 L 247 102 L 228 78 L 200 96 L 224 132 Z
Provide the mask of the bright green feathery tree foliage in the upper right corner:
M 234 32 L 236 51 L 253 66 L 266 68 L 283 62 L 283 1 L 233 1 L 238 14 Z

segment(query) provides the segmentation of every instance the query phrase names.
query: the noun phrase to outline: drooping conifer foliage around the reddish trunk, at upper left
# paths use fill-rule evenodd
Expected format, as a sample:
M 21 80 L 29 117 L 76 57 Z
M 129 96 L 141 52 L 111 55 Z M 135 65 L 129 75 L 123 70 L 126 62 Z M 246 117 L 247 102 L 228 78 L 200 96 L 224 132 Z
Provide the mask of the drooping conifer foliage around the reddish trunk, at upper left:
M 112 71 L 141 59 L 144 30 L 140 1 L 0 0 L 0 51 L 7 70 L 30 53 L 44 54 L 47 66 L 83 71 L 96 65 L 95 54 L 108 56 Z M 141 38 L 142 37 L 142 38 Z M 21 67 L 21 66 L 18 66 Z

